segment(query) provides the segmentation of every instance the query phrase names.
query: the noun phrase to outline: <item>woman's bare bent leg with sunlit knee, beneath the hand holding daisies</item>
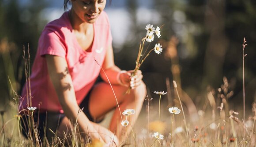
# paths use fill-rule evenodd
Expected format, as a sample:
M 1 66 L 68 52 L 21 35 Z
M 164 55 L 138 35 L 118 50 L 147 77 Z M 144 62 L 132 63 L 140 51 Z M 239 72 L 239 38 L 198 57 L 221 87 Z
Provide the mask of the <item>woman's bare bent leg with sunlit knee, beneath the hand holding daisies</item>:
M 136 111 L 135 115 L 131 115 L 129 122 L 131 125 L 135 124 L 136 119 L 139 116 L 139 112 L 142 108 L 143 101 L 146 97 L 146 86 L 144 83 L 137 86 L 135 89 L 131 90 L 129 94 L 125 94 L 128 87 L 124 86 L 113 86 L 113 90 L 116 94 L 118 104 L 120 106 L 121 113 L 125 109 L 134 109 Z M 117 107 L 117 101 L 114 97 L 113 91 L 108 83 L 102 82 L 97 84 L 91 92 L 89 100 L 89 111 L 92 117 L 100 118 L 104 116 L 108 111 Z M 124 141 L 124 136 L 122 133 L 121 125 L 122 119 L 125 116 L 122 115 L 120 118 L 120 111 L 116 108 L 112 120 L 109 125 L 109 129 L 117 135 L 120 141 Z M 128 125 L 127 133 L 131 131 L 131 125 Z M 125 129 L 124 129 L 125 130 Z

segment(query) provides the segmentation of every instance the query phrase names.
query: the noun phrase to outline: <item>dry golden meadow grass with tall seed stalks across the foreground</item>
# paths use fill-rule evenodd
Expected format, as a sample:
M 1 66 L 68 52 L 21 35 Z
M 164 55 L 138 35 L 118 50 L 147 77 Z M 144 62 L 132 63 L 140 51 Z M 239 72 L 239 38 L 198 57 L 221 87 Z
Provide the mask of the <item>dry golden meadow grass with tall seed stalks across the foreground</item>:
M 243 44 L 243 66 L 244 66 L 244 54 L 246 41 L 244 39 Z M 25 58 L 26 71 L 30 71 L 29 67 L 29 55 L 28 60 Z M 26 72 L 26 76 L 29 77 L 30 72 Z M 243 71 L 244 75 L 244 71 Z M 11 80 L 9 79 L 10 83 Z M 29 79 L 27 79 L 29 81 Z M 174 101 L 179 101 L 177 105 L 164 103 L 159 105 L 152 103 L 152 99 L 147 97 L 145 99 L 145 110 L 142 111 L 140 117 L 136 122 L 136 126 L 133 125 L 132 133 L 125 134 L 126 140 L 122 143 L 122 147 L 254 147 L 256 146 L 256 103 L 252 105 L 252 117 L 245 118 L 245 108 L 243 108 L 243 115 L 239 115 L 236 111 L 230 110 L 229 98 L 232 97 L 232 90 L 228 90 L 228 80 L 223 78 L 223 85 L 218 90 L 211 90 L 207 93 L 204 101 L 207 103 L 200 108 L 197 107 L 199 118 L 194 121 L 192 115 L 187 110 L 189 108 L 183 108 L 184 101 L 181 101 L 179 91 L 177 89 L 177 83 L 173 82 L 176 92 Z M 11 85 L 11 84 L 10 84 Z M 243 83 L 243 86 L 244 83 Z M 28 85 L 28 87 L 30 87 Z M 171 89 L 167 85 L 168 89 Z M 0 146 L 1 147 L 102 147 L 103 143 L 98 140 L 83 140 L 81 132 L 78 132 L 78 125 L 74 123 L 74 129 L 72 134 L 65 134 L 64 138 L 60 138 L 52 130 L 54 134 L 52 140 L 46 140 L 44 137 L 42 140 L 38 136 L 38 129 L 33 120 L 33 113 L 29 113 L 30 133 L 29 138 L 23 137 L 21 130 L 24 129 L 20 125 L 21 112 L 18 111 L 19 96 L 15 90 L 11 87 L 14 100 L 10 101 L 8 108 L 0 111 Z M 28 91 L 30 93 L 30 91 Z M 31 99 L 31 95 L 27 94 L 28 99 Z M 162 96 L 163 101 L 167 101 Z M 30 100 L 28 100 L 30 101 Z M 245 107 L 245 89 L 244 89 L 244 107 Z M 168 111 L 168 106 L 181 108 L 182 115 L 172 115 Z M 161 107 L 162 106 L 162 107 Z M 217 107 L 218 106 L 218 107 Z M 186 106 L 188 107 L 188 106 Z M 163 111 L 163 108 L 164 111 Z M 160 111 L 162 109 L 162 111 Z M 161 113 L 160 113 L 161 112 Z M 249 114 L 250 112 L 246 112 Z M 121 114 L 120 114 L 121 115 Z M 190 116 L 190 117 L 188 117 Z M 159 117 L 159 121 L 158 121 Z M 186 119 L 186 117 L 188 119 Z M 161 120 L 162 118 L 162 120 Z M 189 119 L 190 118 L 190 119 Z M 242 121 L 241 121 L 242 118 Z M 147 120 L 147 121 L 145 121 Z M 103 122 L 107 123 L 107 122 Z M 171 131 L 170 131 L 171 130 Z M 157 139 L 153 136 L 154 133 L 161 133 L 163 140 Z M 171 135 L 170 135 L 171 132 Z M 68 139 L 69 138 L 69 139 Z M 71 140 L 71 141 L 70 141 Z

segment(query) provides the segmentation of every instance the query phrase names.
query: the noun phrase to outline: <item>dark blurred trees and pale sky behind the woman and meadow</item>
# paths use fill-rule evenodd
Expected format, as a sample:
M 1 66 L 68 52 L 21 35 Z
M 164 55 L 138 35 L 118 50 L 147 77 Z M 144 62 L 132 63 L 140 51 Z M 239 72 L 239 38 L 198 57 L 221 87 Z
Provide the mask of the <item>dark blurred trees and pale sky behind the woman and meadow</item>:
M 161 43 L 163 53 L 151 54 L 141 67 L 148 94 L 166 91 L 166 78 L 167 84 L 175 79 L 197 106 L 226 76 L 229 91 L 234 92 L 232 107 L 242 107 L 245 37 L 245 98 L 251 109 L 256 99 L 255 0 L 112 0 L 105 11 L 115 62 L 124 70 L 135 67 L 145 25 L 164 25 L 162 38 L 150 44 L 153 48 L 154 43 Z M 13 99 L 11 85 L 19 93 L 24 83 L 23 47 L 27 51 L 29 45 L 32 65 L 42 29 L 63 12 L 63 0 L 0 0 L 1 110 Z

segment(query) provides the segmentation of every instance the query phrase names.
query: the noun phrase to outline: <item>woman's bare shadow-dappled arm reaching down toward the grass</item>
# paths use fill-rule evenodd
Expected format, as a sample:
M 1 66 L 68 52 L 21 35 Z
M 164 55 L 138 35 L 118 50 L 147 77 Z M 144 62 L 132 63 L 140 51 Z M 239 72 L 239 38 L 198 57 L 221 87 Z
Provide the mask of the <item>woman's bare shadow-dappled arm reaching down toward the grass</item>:
M 87 116 L 82 112 L 79 113 L 79 106 L 75 98 L 75 91 L 72 85 L 72 78 L 68 72 L 68 65 L 63 57 L 45 55 L 50 79 L 56 90 L 60 104 L 65 115 L 75 122 L 78 118 L 80 132 L 89 132 L 91 138 L 97 138 L 102 141 L 102 137 L 91 124 Z M 85 134 L 83 134 L 85 137 Z M 108 143 L 108 142 L 105 142 Z

